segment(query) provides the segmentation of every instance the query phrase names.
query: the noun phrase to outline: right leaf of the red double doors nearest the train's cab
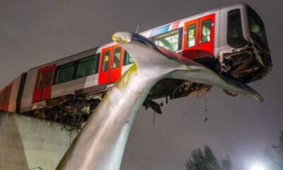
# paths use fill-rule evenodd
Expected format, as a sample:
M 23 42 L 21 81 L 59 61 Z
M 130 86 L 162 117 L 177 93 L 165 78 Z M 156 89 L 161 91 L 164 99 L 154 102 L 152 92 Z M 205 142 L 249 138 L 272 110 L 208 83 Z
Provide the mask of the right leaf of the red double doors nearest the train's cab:
M 200 53 L 199 58 L 214 56 L 215 14 L 200 18 Z

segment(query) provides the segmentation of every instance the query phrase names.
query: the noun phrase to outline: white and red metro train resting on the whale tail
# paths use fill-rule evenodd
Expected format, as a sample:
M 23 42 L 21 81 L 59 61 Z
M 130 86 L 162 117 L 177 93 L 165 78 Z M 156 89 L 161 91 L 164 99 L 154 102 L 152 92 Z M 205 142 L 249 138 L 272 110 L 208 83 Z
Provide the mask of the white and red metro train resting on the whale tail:
M 156 45 L 243 83 L 272 68 L 264 24 L 247 4 L 216 8 L 140 33 Z M 115 42 L 23 72 L 0 93 L 0 109 L 68 125 L 86 121 L 104 94 L 134 63 Z M 204 94 L 211 86 L 163 79 L 146 99 Z M 225 91 L 236 96 L 233 91 Z M 153 102 L 153 101 L 151 101 Z

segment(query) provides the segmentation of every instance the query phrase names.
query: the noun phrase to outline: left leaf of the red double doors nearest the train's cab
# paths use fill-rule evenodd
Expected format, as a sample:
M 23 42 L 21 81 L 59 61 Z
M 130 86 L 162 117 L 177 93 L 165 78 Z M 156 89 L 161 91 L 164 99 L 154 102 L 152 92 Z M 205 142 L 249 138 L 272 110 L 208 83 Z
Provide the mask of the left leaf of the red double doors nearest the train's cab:
M 188 21 L 184 26 L 183 56 L 190 60 L 198 57 L 199 19 Z

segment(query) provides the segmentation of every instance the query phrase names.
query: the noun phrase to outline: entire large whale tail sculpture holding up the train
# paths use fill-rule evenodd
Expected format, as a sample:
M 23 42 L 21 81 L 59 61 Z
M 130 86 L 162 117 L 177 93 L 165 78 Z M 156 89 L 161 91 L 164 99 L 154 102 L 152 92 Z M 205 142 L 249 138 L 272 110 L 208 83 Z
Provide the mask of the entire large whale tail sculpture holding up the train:
M 104 96 L 57 169 L 120 169 L 134 118 L 150 89 L 161 79 L 186 79 L 263 101 L 246 84 L 158 47 L 137 33 L 118 32 L 112 39 L 134 57 L 135 64 Z

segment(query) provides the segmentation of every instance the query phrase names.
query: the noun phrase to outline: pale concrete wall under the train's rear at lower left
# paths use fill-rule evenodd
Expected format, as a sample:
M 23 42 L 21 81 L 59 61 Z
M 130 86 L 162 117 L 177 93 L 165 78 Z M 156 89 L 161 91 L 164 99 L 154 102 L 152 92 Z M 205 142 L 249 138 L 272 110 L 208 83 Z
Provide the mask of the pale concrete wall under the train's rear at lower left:
M 79 130 L 0 111 L 0 170 L 54 170 Z

